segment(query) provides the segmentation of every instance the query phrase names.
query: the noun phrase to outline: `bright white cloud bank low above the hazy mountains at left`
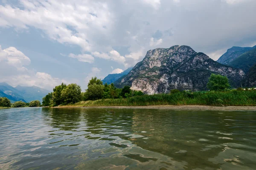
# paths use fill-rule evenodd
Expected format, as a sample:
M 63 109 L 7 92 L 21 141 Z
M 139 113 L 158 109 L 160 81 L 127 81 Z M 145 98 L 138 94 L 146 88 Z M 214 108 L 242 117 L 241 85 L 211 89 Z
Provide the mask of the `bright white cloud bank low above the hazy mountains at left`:
M 6 49 L 0 46 L 0 76 L 1 82 L 7 82 L 12 86 L 38 86 L 52 90 L 61 82 L 66 82 L 64 79 L 53 78 L 51 75 L 35 70 L 27 69 L 26 65 L 30 64 L 30 59 L 15 47 Z

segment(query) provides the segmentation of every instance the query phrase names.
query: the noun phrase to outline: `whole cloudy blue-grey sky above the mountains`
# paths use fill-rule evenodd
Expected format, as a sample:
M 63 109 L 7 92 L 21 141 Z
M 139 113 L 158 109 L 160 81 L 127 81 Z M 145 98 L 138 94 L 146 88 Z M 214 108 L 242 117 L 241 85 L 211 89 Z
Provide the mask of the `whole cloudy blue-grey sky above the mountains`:
M 83 90 L 154 48 L 256 45 L 256 0 L 0 0 L 0 82 Z

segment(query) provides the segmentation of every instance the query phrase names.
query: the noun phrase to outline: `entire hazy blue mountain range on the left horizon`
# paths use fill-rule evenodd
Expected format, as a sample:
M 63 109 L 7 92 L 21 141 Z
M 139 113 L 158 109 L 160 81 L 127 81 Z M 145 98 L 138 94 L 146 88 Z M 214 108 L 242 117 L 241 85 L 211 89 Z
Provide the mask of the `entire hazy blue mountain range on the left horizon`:
M 12 87 L 6 82 L 0 83 L 0 97 L 7 97 L 11 102 L 31 102 L 32 100 L 42 102 L 42 98 L 48 93 L 49 91 L 36 86 L 26 87 L 18 85 L 17 87 Z

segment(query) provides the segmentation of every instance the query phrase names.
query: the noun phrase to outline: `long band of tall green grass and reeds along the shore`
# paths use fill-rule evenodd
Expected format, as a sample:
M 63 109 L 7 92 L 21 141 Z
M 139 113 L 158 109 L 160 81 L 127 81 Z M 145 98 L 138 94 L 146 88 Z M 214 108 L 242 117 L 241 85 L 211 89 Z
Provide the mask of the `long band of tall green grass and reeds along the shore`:
M 177 92 L 134 96 L 127 99 L 100 99 L 81 101 L 67 106 L 150 106 L 150 105 L 212 105 L 212 106 L 256 106 L 256 90 L 253 91 L 209 91 Z

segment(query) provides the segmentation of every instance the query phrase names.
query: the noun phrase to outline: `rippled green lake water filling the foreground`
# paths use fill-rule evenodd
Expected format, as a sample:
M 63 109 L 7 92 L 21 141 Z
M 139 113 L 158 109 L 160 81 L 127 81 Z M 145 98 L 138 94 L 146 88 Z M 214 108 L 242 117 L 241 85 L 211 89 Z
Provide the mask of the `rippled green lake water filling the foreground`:
M 256 112 L 113 111 L 1 109 L 0 169 L 256 169 Z

